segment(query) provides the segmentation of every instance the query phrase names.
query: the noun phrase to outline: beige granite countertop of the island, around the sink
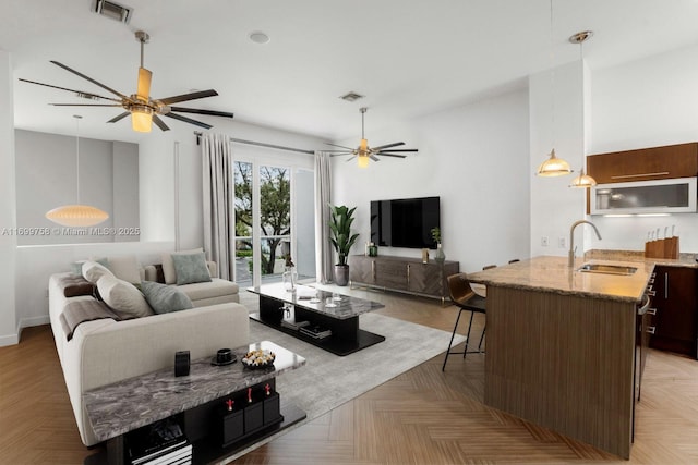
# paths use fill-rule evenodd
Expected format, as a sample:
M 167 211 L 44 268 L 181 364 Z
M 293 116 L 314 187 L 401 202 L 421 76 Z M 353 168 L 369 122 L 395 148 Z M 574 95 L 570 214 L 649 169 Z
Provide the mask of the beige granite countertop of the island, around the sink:
M 579 272 L 583 264 L 606 264 L 636 267 L 630 276 Z M 662 259 L 662 264 L 664 259 Z M 576 296 L 640 303 L 655 262 L 652 260 L 583 259 L 578 257 L 573 268 L 566 257 L 534 257 L 510 265 L 468 273 L 471 282 Z

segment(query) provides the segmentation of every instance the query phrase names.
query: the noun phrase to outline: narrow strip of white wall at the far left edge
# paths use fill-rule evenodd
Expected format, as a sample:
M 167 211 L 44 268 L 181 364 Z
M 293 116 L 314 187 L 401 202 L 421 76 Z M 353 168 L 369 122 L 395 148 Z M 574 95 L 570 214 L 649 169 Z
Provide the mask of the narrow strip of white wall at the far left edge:
M 14 230 L 14 121 L 12 117 L 12 61 L 0 50 L 0 229 Z M 0 346 L 19 342 L 15 311 L 16 236 L 0 234 Z

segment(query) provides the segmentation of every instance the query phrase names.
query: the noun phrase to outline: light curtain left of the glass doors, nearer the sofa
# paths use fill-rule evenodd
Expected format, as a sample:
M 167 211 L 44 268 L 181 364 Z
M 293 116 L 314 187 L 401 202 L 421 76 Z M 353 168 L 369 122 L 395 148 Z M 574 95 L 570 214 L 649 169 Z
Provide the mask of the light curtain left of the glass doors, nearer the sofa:
M 234 174 L 232 146 L 225 134 L 202 135 L 204 250 L 218 264 L 219 277 L 233 279 Z

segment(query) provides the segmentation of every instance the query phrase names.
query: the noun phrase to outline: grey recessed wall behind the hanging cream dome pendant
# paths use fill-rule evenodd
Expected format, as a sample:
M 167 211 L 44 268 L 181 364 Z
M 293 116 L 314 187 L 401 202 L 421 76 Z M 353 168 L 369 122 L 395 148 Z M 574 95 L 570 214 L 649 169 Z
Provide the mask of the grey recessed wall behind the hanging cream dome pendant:
M 75 136 L 15 131 L 17 225 L 50 232 L 21 235 L 19 245 L 139 240 L 127 231 L 91 234 L 89 228 L 56 228 L 45 218 L 48 210 L 80 200 L 109 215 L 100 230 L 139 227 L 139 146 L 81 137 L 77 170 L 75 142 Z

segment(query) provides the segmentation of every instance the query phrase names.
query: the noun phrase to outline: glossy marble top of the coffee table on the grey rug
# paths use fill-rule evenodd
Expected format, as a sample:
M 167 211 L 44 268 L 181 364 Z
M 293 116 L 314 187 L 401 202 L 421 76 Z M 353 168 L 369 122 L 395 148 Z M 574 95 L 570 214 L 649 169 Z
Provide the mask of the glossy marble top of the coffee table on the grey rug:
M 333 299 L 332 292 L 306 285 L 297 286 L 296 292 L 286 291 L 284 283 L 264 284 L 261 287 L 249 287 L 248 291 L 339 320 L 354 318 L 384 307 L 381 303 L 349 295 L 337 294 L 335 295 L 337 298 Z M 330 299 L 330 305 L 334 306 L 328 305 L 327 299 Z

